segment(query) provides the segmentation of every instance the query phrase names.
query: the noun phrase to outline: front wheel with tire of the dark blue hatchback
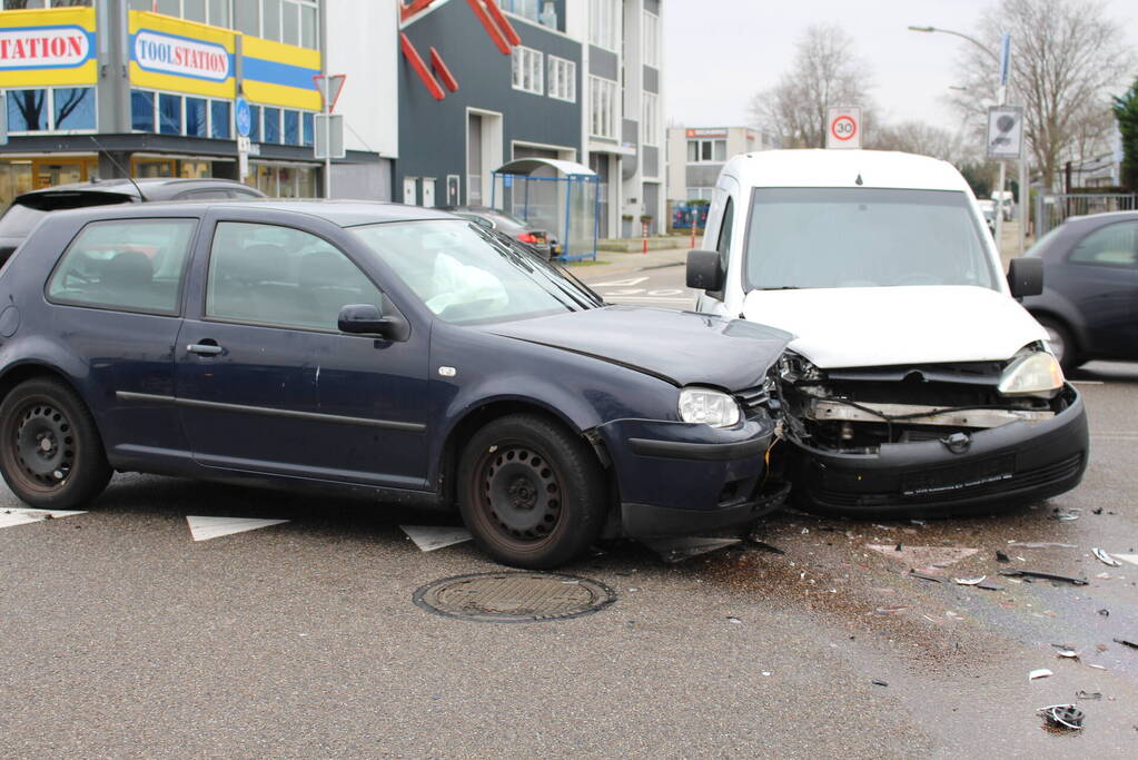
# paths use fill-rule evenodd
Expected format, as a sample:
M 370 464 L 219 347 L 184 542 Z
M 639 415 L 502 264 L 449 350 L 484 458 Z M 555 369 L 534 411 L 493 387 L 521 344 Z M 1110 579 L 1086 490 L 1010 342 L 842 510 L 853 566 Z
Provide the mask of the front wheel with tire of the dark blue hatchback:
M 475 540 L 503 564 L 564 564 L 600 536 L 608 506 L 595 454 L 536 414 L 476 432 L 459 464 L 459 510 Z

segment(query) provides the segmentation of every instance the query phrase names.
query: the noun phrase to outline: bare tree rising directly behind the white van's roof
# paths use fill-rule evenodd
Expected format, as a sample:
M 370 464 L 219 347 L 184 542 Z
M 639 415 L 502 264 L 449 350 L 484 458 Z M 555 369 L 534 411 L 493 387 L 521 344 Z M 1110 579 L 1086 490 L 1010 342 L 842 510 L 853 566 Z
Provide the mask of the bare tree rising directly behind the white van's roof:
M 749 106 L 751 121 L 783 148 L 824 148 L 831 106 L 868 106 L 869 71 L 840 26 L 815 24 L 798 41 L 790 71 Z

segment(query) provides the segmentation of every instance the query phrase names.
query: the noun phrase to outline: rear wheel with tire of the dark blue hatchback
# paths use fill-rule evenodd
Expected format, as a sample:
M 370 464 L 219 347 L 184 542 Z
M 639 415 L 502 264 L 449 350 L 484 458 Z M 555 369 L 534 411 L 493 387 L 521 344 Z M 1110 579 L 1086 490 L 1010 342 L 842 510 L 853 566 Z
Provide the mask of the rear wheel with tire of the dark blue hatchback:
M 27 380 L 0 404 L 0 472 L 20 501 L 42 510 L 86 504 L 107 487 L 94 418 L 59 380 Z

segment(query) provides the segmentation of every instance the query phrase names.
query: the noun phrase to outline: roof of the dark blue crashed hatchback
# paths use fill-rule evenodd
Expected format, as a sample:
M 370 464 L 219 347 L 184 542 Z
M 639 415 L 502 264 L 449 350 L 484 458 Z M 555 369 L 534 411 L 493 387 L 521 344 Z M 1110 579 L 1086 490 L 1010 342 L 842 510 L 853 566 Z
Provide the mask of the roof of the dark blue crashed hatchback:
M 184 213 L 193 208 L 205 213 L 212 207 L 225 210 L 281 210 L 292 214 L 304 214 L 325 220 L 339 226 L 356 226 L 360 224 L 378 224 L 382 222 L 410 222 L 423 220 L 457 218 L 440 208 L 422 208 L 404 204 L 390 204 L 373 200 L 321 200 L 321 199 L 287 199 L 254 198 L 249 200 L 178 200 L 168 203 L 137 204 L 129 206 L 91 206 L 73 210 L 57 212 L 59 215 L 83 216 L 97 220 L 101 216 L 124 218 L 129 216 L 154 216 Z

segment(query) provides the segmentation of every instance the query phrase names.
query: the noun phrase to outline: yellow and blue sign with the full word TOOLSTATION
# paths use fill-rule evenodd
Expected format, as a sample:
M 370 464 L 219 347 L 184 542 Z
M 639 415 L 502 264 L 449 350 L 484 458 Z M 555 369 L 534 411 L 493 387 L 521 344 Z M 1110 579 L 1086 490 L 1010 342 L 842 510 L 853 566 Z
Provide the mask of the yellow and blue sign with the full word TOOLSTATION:
M 131 84 L 232 98 L 236 34 L 173 16 L 130 11 Z

